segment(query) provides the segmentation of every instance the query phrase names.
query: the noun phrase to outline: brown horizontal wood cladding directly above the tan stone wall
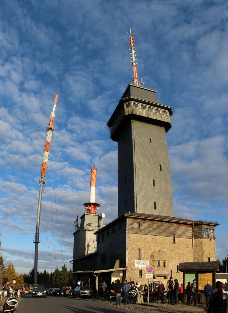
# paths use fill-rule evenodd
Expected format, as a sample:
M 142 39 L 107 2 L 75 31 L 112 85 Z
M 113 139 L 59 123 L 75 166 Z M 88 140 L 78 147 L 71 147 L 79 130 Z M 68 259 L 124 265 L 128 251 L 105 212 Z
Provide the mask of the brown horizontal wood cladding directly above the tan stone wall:
M 139 223 L 140 228 L 133 227 L 133 222 Z M 192 228 L 190 225 L 137 219 L 129 219 L 129 233 L 166 237 L 173 237 L 173 234 L 175 234 L 177 238 L 192 238 Z

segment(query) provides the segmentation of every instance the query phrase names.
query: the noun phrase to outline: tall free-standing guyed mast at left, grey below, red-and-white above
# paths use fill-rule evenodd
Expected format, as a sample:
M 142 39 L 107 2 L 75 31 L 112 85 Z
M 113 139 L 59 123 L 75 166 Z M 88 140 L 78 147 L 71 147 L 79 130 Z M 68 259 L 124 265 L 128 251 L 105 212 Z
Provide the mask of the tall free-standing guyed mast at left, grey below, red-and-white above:
M 48 124 L 46 131 L 46 142 L 44 146 L 44 153 L 43 153 L 43 159 L 42 159 L 42 166 L 41 166 L 41 178 L 40 178 L 40 193 L 39 193 L 39 200 L 38 200 L 38 208 L 37 208 L 37 220 L 36 220 L 36 234 L 35 234 L 35 240 L 33 241 L 35 243 L 35 262 L 34 262 L 34 284 L 37 284 L 37 270 L 38 270 L 38 244 L 40 243 L 39 238 L 39 231 L 40 231 L 40 213 L 41 213 L 41 202 L 42 202 L 42 194 L 43 194 L 43 187 L 45 184 L 45 175 L 47 172 L 47 162 L 48 162 L 48 155 L 51 145 L 51 137 L 52 133 L 54 131 L 53 123 L 55 119 L 55 110 L 56 110 L 56 103 L 58 99 L 58 90 L 56 92 L 56 97 L 54 101 L 53 110 L 51 112 L 50 117 L 50 123 Z

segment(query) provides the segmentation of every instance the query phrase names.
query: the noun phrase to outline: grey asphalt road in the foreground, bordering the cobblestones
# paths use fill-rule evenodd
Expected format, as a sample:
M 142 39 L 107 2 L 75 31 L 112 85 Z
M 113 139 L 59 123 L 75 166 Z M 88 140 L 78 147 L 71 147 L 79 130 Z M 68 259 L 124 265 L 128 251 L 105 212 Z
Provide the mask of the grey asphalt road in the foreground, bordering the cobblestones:
M 190 309 L 190 308 L 189 308 Z M 191 308 L 192 309 L 192 308 Z M 116 305 L 115 301 L 103 299 L 76 299 L 51 297 L 34 298 L 26 295 L 19 299 L 18 311 L 20 313 L 167 313 L 167 312 L 187 312 L 186 307 L 180 305 L 178 308 L 167 310 L 167 308 L 153 308 L 147 305 Z M 190 313 L 190 312 L 189 312 Z M 192 312 L 191 312 L 192 313 Z M 200 313 L 200 312 L 197 312 Z

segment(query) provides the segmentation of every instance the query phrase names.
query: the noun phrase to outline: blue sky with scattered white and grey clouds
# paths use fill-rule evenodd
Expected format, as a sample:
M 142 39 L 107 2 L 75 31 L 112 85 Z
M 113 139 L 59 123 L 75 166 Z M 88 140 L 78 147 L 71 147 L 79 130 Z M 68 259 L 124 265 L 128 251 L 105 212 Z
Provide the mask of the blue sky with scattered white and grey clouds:
M 104 223 L 117 216 L 117 143 L 106 123 L 132 80 L 129 26 L 139 79 L 174 112 L 174 215 L 220 223 L 217 258 L 228 253 L 226 1 L 3 0 L 0 231 L 18 273 L 34 266 L 38 180 L 57 88 L 38 269 L 71 267 L 74 221 L 89 201 L 95 159 L 99 212 Z

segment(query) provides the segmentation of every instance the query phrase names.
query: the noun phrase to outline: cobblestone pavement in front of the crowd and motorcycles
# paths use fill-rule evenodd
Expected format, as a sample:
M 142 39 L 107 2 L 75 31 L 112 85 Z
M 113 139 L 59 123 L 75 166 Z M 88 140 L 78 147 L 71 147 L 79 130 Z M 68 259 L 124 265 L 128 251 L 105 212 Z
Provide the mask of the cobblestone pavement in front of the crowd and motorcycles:
M 108 305 L 116 306 L 115 300 L 107 300 L 107 299 L 99 299 L 101 302 L 107 302 Z M 205 305 L 186 305 L 179 303 L 178 305 L 168 305 L 168 304 L 161 304 L 161 303 L 146 303 L 143 304 L 133 304 L 130 301 L 129 305 L 124 305 L 122 303 L 121 305 L 118 305 L 118 307 L 123 307 L 124 310 L 128 310 L 131 312 L 140 312 L 140 313 L 180 313 L 180 312 L 205 312 L 205 309 L 207 311 L 207 308 Z

